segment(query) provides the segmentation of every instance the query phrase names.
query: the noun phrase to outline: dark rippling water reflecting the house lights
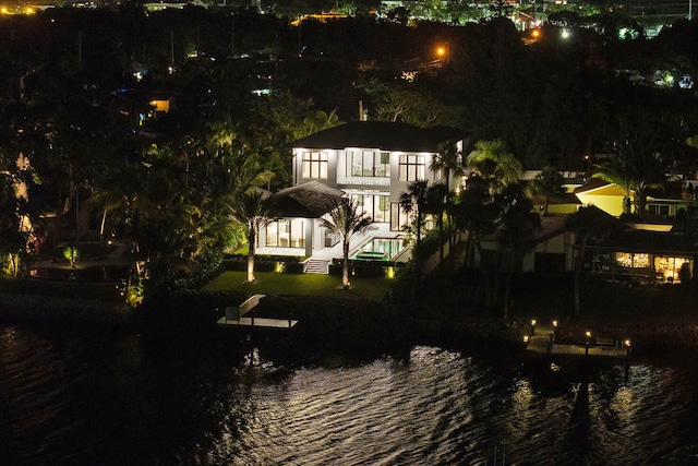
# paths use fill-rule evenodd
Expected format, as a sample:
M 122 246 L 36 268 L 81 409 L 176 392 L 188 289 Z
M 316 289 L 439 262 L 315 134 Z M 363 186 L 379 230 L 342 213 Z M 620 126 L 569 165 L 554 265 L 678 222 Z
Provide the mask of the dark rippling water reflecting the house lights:
M 697 464 L 695 359 L 544 369 L 0 327 L 0 464 Z

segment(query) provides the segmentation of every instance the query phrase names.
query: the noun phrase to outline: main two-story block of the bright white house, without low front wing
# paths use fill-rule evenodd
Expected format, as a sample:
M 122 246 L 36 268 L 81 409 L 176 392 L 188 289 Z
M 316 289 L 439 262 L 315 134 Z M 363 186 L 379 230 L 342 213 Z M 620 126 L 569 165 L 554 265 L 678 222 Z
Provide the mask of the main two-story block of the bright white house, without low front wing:
M 374 223 L 397 231 L 407 223 L 399 198 L 411 181 L 446 182 L 443 169 L 432 170 L 442 144 L 462 151 L 467 131 L 448 127 L 418 128 L 406 123 L 359 121 L 341 124 L 292 143 L 293 184 L 317 181 L 356 199 Z M 449 187 L 462 186 L 450 175 Z

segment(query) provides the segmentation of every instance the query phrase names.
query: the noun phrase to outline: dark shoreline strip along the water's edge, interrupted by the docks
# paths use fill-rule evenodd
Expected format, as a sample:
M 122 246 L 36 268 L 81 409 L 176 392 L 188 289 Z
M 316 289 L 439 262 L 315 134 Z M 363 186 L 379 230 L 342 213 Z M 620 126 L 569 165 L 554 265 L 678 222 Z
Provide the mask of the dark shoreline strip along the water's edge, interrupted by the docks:
M 226 296 L 201 299 L 201 295 L 177 297 L 147 308 L 131 309 L 123 304 L 73 298 L 0 294 L 0 322 L 4 324 L 50 325 L 75 331 L 121 328 L 145 333 L 200 333 L 216 331 L 220 309 L 216 301 Z M 322 297 L 268 297 L 258 316 L 287 318 L 300 321 L 292 332 L 301 338 L 315 338 L 351 346 L 374 346 L 385 342 L 418 342 L 448 347 L 491 347 L 524 349 L 522 336 L 530 326 L 521 319 L 504 323 L 494 316 L 441 314 L 437 319 L 409 315 L 405 309 L 385 302 L 336 302 Z M 561 326 L 564 338 L 574 339 L 586 328 L 599 335 L 628 338 L 636 355 L 698 348 L 698 326 L 661 325 L 616 321 L 594 325 L 593 321 L 566 323 Z M 284 331 L 281 331 L 284 332 Z

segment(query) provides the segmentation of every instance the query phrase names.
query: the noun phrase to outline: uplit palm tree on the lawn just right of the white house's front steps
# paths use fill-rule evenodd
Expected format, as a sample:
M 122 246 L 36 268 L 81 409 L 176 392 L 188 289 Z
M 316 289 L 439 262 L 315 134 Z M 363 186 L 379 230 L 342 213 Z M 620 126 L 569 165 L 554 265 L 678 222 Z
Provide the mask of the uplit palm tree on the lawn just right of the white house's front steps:
M 349 289 L 349 243 L 354 236 L 373 229 L 373 220 L 359 210 L 356 200 L 348 199 L 332 205 L 327 215 L 329 217 L 321 218 L 320 224 L 341 239 L 341 286 Z

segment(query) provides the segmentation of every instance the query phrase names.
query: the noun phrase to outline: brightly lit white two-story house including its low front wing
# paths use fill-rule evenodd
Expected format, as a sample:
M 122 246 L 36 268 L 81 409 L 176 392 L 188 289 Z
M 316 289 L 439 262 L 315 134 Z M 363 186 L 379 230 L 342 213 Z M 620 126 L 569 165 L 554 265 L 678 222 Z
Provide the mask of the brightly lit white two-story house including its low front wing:
M 285 198 L 276 203 L 281 206 L 288 205 L 288 196 L 291 196 L 297 204 L 293 211 L 304 210 L 309 214 L 294 217 L 290 211 L 287 214 L 284 208 L 276 208 L 273 213 L 276 220 L 261 232 L 261 246 L 301 248 L 304 255 L 332 246 L 332 239 L 315 220 L 327 212 L 338 192 L 356 200 L 374 223 L 384 224 L 393 231 L 400 230 L 407 222 L 399 206 L 400 194 L 416 180 L 446 182 L 445 170 L 434 166 L 434 160 L 446 144 L 462 151 L 467 135 L 467 131 L 443 126 L 418 128 L 406 123 L 358 121 L 293 142 L 293 187 L 273 198 Z M 450 177 L 450 187 L 462 184 L 456 175 Z M 299 203 L 312 205 L 298 208 Z M 322 206 L 326 208 L 318 208 Z M 294 240 L 277 240 L 286 235 Z

